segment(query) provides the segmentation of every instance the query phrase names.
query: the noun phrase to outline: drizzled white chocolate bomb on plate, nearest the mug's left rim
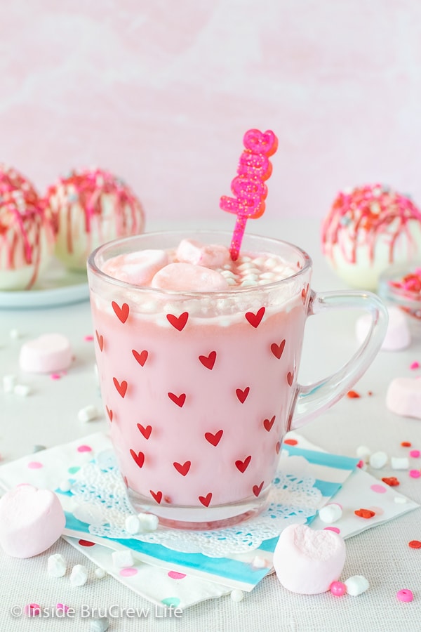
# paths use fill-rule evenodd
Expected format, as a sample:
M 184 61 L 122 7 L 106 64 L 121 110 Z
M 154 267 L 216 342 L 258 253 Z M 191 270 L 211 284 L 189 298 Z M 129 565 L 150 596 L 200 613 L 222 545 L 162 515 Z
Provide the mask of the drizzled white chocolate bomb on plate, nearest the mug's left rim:
M 100 244 L 138 235 L 145 225 L 142 204 L 132 190 L 102 169 L 74 170 L 48 188 L 57 236 L 55 254 L 68 268 L 85 270 Z

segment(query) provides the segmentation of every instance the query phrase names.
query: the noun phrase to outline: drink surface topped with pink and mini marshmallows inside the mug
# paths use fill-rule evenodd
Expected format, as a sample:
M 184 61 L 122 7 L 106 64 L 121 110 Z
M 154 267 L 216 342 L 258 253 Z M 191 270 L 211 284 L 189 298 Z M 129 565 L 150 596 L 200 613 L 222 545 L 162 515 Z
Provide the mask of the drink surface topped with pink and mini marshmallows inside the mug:
M 171 291 L 227 291 L 286 279 L 293 268 L 279 256 L 246 252 L 232 261 L 221 244 L 182 239 L 177 249 L 149 249 L 110 258 L 102 272 L 139 287 Z

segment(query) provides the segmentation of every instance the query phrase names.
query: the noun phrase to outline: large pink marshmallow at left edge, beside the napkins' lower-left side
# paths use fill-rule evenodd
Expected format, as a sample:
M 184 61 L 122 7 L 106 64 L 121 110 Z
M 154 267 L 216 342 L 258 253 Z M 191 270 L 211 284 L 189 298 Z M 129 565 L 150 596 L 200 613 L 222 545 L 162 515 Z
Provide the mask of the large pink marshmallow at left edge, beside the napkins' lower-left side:
M 0 545 L 13 558 L 32 558 L 58 540 L 65 513 L 49 489 L 18 485 L 0 499 Z

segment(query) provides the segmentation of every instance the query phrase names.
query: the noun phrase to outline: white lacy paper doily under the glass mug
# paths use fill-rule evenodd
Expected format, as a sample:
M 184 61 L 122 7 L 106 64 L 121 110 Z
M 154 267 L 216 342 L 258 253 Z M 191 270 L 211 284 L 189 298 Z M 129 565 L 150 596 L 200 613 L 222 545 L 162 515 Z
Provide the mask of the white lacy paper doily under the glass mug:
M 133 535 L 125 529 L 126 518 L 135 515 L 126 487 L 112 451 L 102 452 L 76 475 L 71 489 L 76 503 L 73 513 L 75 518 L 89 525 L 89 532 L 95 536 L 137 539 L 161 544 L 173 551 L 202 553 L 212 558 L 246 553 L 258 548 L 263 541 L 279 536 L 287 525 L 306 522 L 316 514 L 321 503 L 321 492 L 314 487 L 314 478 L 305 471 L 308 469 L 305 459 L 284 457 L 280 467 L 269 494 L 269 504 L 255 518 L 213 531 L 159 527 L 154 532 Z

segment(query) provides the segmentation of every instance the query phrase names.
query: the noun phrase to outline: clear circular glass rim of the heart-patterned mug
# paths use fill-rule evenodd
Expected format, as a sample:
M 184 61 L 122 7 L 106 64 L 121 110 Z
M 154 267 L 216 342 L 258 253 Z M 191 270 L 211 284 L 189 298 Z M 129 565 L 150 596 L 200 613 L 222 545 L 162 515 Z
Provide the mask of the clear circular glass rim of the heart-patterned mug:
M 192 296 L 192 297 L 199 297 L 199 296 L 215 296 L 215 297 L 220 297 L 220 296 L 233 296 L 234 294 L 247 294 L 247 293 L 253 293 L 255 291 L 262 291 L 262 290 L 267 290 L 267 289 L 272 289 L 274 287 L 279 287 L 281 284 L 287 284 L 289 282 L 291 282 L 293 279 L 297 279 L 298 277 L 300 277 L 300 275 L 304 275 L 305 272 L 307 272 L 307 270 L 312 269 L 312 265 L 313 265 L 313 261 L 312 258 L 309 256 L 309 254 L 307 253 L 307 251 L 303 250 L 302 248 L 300 248 L 300 246 L 296 246 L 295 244 L 291 243 L 291 242 L 286 242 L 283 239 L 275 239 L 274 237 L 267 237 L 266 235 L 256 235 L 255 233 L 246 233 L 246 235 L 244 235 L 244 239 L 263 239 L 265 240 L 265 242 L 273 243 L 276 245 L 281 245 L 281 246 L 288 246 L 288 248 L 293 249 L 297 254 L 299 254 L 300 256 L 302 256 L 304 265 L 302 266 L 302 268 L 300 268 L 300 270 L 297 270 L 297 272 L 294 272 L 293 275 L 289 275 L 288 277 L 285 277 L 283 279 L 277 279 L 276 281 L 272 281 L 272 282 L 268 282 L 265 284 L 261 284 L 261 285 L 253 285 L 253 286 L 246 286 L 246 287 L 229 287 L 229 289 L 226 290 L 219 290 L 219 291 L 209 291 L 209 290 L 203 290 L 203 291 L 195 291 L 195 290 L 171 290 L 171 289 L 161 289 L 161 288 L 155 288 L 155 287 L 149 287 L 146 285 L 135 285 L 133 283 L 129 283 L 127 281 L 121 281 L 121 279 L 116 279 L 115 277 L 111 277 L 109 275 L 107 275 L 105 272 L 103 272 L 97 265 L 96 263 L 96 258 L 98 257 L 98 255 L 100 255 L 102 253 L 102 251 L 106 251 L 107 249 L 110 249 L 112 247 L 118 246 L 119 244 L 128 244 L 129 242 L 135 241 L 136 239 L 143 239 L 144 237 L 159 237 L 160 235 L 180 235 L 180 239 L 185 239 L 186 237 L 189 237 L 189 235 L 194 234 L 197 237 L 200 237 L 201 235 L 220 235 L 221 237 L 227 237 L 228 239 L 228 243 L 231 243 L 231 239 L 232 239 L 232 232 L 229 232 L 227 230 L 218 230 L 218 229 L 206 229 L 206 228 L 201 228 L 201 229 L 194 229 L 194 228 L 188 228 L 185 230 L 182 229 L 175 229 L 175 230 L 154 230 L 153 232 L 142 232 L 139 235 L 129 235 L 128 237 L 118 237 L 117 239 L 112 239 L 109 242 L 106 242 L 105 244 L 100 244 L 100 246 L 98 246 L 97 248 L 95 248 L 95 250 L 93 250 L 91 252 L 91 254 L 88 256 L 88 260 L 87 260 L 87 267 L 88 267 L 88 272 L 92 272 L 93 275 L 95 275 L 96 277 L 102 279 L 103 281 L 106 281 L 109 284 L 113 284 L 116 287 L 121 287 L 121 289 L 127 289 L 127 290 L 131 290 L 131 291 L 140 291 L 140 292 L 144 292 L 144 291 L 148 291 L 148 292 L 152 292 L 154 294 L 156 294 L 156 296 L 158 295 L 171 295 L 171 296 Z M 269 251 L 269 254 L 270 251 Z M 240 256 L 241 256 L 241 251 L 240 251 Z

